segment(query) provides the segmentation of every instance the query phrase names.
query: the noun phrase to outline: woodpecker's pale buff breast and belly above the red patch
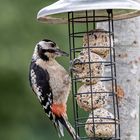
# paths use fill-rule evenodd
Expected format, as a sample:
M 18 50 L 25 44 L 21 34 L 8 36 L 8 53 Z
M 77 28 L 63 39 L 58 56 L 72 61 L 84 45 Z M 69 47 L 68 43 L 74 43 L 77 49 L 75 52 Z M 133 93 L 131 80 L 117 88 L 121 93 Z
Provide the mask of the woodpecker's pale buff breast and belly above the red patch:
M 50 87 L 52 87 L 53 101 L 66 103 L 70 93 L 70 77 L 67 71 L 59 64 L 47 66 L 50 75 Z

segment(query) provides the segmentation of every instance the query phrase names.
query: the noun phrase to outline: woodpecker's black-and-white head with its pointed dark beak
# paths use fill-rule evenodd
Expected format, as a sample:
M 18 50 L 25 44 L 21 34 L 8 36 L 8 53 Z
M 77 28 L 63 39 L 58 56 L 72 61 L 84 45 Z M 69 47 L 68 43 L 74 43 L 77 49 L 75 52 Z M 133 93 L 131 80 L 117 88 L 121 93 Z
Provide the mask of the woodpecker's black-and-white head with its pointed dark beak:
M 59 56 L 68 56 L 68 54 L 59 49 L 55 42 L 43 39 L 35 48 L 36 54 L 43 60 L 55 59 Z

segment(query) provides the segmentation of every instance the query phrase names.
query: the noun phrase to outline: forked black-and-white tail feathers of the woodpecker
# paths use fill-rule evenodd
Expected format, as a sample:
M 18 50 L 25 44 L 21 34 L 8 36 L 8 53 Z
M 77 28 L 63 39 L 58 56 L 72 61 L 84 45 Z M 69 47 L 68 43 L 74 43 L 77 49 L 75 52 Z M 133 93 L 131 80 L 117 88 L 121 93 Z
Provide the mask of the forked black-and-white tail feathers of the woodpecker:
M 59 136 L 64 136 L 64 132 L 63 132 L 63 126 L 67 129 L 67 131 L 69 132 L 69 134 L 73 137 L 73 140 L 80 140 L 80 137 L 78 135 L 76 135 L 76 132 L 74 130 L 74 128 L 72 127 L 72 125 L 68 122 L 67 119 L 65 119 L 65 117 L 59 117 L 57 120 L 57 130 L 58 130 L 58 135 Z

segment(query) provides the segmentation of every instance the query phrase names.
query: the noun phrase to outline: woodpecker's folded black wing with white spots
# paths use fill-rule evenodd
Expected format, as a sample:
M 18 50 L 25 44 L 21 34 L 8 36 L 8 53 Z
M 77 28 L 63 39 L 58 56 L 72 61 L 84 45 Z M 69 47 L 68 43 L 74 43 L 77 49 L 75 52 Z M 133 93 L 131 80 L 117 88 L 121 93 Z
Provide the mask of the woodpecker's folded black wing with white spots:
M 53 114 L 51 112 L 53 95 L 49 85 L 49 74 L 47 70 L 42 69 L 35 62 L 32 62 L 30 65 L 29 80 L 31 87 L 39 98 L 46 114 L 50 120 L 53 120 Z

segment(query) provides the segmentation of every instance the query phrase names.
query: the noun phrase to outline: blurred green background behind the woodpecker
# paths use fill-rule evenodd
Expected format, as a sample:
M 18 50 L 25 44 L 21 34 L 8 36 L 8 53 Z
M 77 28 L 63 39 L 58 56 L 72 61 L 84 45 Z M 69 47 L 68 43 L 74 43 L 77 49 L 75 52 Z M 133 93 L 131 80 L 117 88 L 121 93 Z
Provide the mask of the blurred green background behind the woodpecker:
M 34 46 L 44 38 L 68 50 L 67 25 L 47 25 L 37 12 L 53 0 L 1 0 L 0 4 L 0 140 L 57 140 L 57 133 L 29 87 Z M 69 58 L 58 60 L 68 70 Z M 68 115 L 73 124 L 72 102 Z M 71 112 L 71 114 L 70 114 Z M 65 131 L 61 140 L 70 140 Z

